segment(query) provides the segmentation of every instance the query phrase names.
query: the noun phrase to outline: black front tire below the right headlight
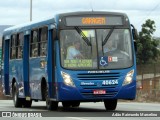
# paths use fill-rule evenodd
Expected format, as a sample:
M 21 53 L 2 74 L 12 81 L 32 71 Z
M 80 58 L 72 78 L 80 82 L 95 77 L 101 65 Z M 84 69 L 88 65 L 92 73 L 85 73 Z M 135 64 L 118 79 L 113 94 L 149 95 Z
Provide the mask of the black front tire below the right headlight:
M 104 100 L 106 110 L 115 110 L 117 107 L 117 99 Z

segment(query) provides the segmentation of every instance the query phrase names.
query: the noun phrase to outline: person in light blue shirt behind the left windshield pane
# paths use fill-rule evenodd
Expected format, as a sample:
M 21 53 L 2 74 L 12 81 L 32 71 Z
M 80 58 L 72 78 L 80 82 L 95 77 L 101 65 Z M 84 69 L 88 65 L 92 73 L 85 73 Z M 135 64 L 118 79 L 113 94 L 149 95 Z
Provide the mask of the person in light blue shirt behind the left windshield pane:
M 75 41 L 72 46 L 67 48 L 66 59 L 83 59 L 83 55 L 80 52 L 80 42 Z

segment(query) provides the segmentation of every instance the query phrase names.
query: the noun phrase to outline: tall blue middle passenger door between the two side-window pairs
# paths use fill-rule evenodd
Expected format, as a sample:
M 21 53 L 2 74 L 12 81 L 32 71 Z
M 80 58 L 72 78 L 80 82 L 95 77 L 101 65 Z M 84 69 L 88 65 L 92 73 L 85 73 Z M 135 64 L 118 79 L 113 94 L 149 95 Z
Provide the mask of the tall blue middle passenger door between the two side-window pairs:
M 24 35 L 23 47 L 23 80 L 24 80 L 24 94 L 26 99 L 30 99 L 29 93 L 29 31 Z

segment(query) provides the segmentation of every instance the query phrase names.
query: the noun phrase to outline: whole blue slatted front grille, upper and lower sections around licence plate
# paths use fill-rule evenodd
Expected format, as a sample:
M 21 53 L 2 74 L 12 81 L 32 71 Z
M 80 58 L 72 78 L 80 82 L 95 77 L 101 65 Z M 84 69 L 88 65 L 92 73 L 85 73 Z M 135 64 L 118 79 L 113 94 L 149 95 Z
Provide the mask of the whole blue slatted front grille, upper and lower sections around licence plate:
M 87 80 L 90 80 L 90 81 L 94 81 L 94 80 L 117 80 L 119 79 L 120 77 L 122 76 L 121 73 L 118 73 L 118 72 L 114 72 L 114 73 L 80 73 L 80 74 L 77 74 L 77 78 L 81 81 L 87 81 Z M 87 99 L 103 99 L 103 98 L 112 98 L 114 97 L 118 91 L 115 90 L 115 88 L 117 87 L 117 85 L 113 85 L 113 86 L 105 86 L 105 85 L 81 85 L 82 87 L 82 90 L 81 91 L 81 94 L 87 98 Z M 93 90 L 96 90 L 96 89 L 103 89 L 103 90 L 106 90 L 106 94 L 98 94 L 98 95 L 95 95 L 93 94 Z

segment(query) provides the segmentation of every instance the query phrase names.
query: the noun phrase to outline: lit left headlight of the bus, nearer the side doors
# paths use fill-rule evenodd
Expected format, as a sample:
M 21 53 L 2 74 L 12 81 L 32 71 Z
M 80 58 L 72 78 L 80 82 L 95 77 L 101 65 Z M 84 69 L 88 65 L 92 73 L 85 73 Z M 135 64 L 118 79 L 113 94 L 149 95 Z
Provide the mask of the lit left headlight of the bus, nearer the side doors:
M 62 77 L 63 77 L 63 80 L 64 80 L 64 84 L 65 84 L 65 85 L 75 87 L 75 85 L 74 85 L 74 83 L 73 83 L 72 78 L 71 78 L 70 75 L 68 75 L 67 73 L 62 72 L 62 71 L 61 71 L 61 75 L 62 75 Z

